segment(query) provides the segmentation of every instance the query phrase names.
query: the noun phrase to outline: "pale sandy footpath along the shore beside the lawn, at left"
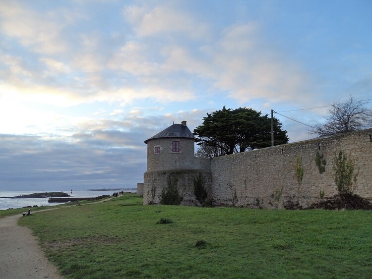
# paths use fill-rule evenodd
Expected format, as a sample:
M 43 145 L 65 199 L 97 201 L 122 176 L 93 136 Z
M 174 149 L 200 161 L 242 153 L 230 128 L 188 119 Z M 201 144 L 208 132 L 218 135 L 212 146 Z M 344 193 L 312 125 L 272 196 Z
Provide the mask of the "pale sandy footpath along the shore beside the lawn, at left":
M 31 214 L 58 209 L 53 208 L 35 212 L 31 210 Z M 0 219 L 0 278 L 62 279 L 63 277 L 58 274 L 57 268 L 44 256 L 37 238 L 32 235 L 31 229 L 17 224 L 19 218 L 22 218 L 22 216 L 14 215 Z

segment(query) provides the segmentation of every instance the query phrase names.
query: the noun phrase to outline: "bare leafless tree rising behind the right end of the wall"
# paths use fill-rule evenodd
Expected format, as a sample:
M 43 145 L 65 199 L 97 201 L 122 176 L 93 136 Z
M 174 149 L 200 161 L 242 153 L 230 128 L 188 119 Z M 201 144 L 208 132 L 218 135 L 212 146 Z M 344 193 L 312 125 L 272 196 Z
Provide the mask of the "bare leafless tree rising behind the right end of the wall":
M 335 102 L 324 116 L 324 124 L 315 124 L 310 134 L 331 136 L 372 127 L 372 110 L 367 109 L 369 100 L 354 99 L 351 95 L 346 103 Z

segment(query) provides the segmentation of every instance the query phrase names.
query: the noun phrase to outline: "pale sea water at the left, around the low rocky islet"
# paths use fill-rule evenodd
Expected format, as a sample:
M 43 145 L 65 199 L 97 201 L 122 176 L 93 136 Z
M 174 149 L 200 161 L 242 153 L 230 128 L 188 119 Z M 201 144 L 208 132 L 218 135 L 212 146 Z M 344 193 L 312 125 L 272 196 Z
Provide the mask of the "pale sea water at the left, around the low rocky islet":
M 27 206 L 55 206 L 61 203 L 48 203 L 49 198 L 26 198 L 26 199 L 11 199 L 10 197 L 16 197 L 20 195 L 29 195 L 33 193 L 45 193 L 45 192 L 63 192 L 69 194 L 71 197 L 100 197 L 103 195 L 112 195 L 114 192 L 130 192 L 135 193 L 136 189 L 121 189 L 121 190 L 80 190 L 80 191 L 0 191 L 0 210 L 8 208 L 22 208 Z

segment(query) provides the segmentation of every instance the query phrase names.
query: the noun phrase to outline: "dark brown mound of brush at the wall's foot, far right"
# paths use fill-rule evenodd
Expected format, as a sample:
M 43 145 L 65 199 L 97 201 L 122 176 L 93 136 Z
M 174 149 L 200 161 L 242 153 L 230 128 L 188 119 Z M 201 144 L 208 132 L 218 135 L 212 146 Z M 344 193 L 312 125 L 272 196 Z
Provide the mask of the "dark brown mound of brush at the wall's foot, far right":
M 326 210 L 372 210 L 372 203 L 358 195 L 345 193 L 332 198 L 325 198 L 320 202 L 310 205 L 307 209 L 326 209 Z

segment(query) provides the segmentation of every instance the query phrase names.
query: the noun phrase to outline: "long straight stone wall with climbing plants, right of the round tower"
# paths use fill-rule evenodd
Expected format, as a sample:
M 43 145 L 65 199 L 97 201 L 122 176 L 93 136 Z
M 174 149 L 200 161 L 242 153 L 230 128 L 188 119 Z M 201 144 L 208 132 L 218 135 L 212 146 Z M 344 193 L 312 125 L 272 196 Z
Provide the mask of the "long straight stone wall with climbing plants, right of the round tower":
M 325 197 L 333 196 L 337 191 L 332 161 L 339 150 L 350 155 L 359 169 L 355 193 L 372 199 L 371 134 L 368 129 L 214 158 L 213 204 L 282 208 L 298 202 L 307 207 L 320 199 L 320 191 Z M 326 161 L 323 173 L 315 164 L 316 153 Z M 301 181 L 296 166 L 303 169 Z

